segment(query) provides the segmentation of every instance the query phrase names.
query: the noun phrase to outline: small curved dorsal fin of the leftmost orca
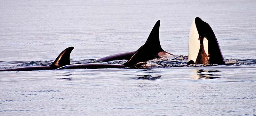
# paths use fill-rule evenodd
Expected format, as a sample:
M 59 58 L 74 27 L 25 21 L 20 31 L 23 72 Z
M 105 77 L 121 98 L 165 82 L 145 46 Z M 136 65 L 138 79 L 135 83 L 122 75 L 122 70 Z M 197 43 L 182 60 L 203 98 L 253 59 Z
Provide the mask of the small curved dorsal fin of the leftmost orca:
M 74 47 L 68 47 L 63 50 L 50 66 L 57 69 L 62 66 L 70 65 L 70 53 L 73 49 Z

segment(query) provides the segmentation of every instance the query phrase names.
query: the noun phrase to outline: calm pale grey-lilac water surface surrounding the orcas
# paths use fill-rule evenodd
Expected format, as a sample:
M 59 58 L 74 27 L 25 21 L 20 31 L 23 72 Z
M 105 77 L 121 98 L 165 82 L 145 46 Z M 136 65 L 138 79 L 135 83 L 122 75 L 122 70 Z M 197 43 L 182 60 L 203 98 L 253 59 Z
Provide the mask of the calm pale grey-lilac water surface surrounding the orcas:
M 0 69 L 49 65 L 67 47 L 87 63 L 143 45 L 157 20 L 175 58 L 146 69 L 0 72 L 0 115 L 256 115 L 256 1 L 0 1 Z M 225 65 L 188 66 L 195 17 Z M 120 63 L 115 61 L 110 63 Z

